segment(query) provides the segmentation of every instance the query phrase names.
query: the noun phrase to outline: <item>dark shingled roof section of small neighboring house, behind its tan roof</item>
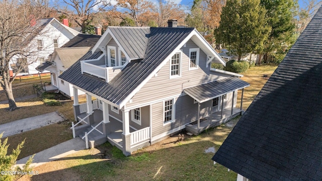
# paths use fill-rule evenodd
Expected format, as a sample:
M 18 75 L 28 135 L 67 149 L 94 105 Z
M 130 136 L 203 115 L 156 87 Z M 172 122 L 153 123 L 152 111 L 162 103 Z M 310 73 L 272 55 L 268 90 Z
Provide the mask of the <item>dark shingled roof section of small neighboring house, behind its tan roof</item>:
M 101 35 L 78 34 L 60 48 L 66 47 L 94 47 Z

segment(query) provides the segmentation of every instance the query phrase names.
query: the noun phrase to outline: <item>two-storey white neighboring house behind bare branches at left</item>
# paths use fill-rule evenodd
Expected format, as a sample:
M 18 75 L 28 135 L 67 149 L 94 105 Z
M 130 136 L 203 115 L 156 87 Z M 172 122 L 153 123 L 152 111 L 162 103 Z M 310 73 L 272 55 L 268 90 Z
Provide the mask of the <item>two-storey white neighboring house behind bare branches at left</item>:
M 54 52 L 55 48 L 61 47 L 79 34 L 79 32 L 68 27 L 68 21 L 64 22 L 67 26 L 61 24 L 55 18 L 37 20 L 32 27 L 39 29 L 39 33 L 32 38 L 28 45 L 28 47 L 31 47 L 29 51 L 36 53 L 27 59 L 21 58 L 18 55 L 14 56 L 10 61 L 10 68 L 13 72 L 22 63 L 25 66 L 19 75 L 39 73 L 36 67 L 45 62 L 49 58 L 49 55 Z

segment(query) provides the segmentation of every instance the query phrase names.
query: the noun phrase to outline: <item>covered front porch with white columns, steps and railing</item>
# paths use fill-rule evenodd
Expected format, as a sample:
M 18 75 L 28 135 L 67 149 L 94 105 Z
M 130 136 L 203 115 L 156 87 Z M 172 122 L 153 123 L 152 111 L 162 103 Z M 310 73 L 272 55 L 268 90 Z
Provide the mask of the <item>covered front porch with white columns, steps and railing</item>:
M 77 91 L 74 91 L 74 95 L 74 116 L 77 123 L 72 123 L 71 129 L 73 137 L 81 137 L 87 147 L 94 146 L 92 141 L 95 141 L 95 138 L 105 138 L 105 141 L 129 155 L 137 148 L 149 145 L 150 127 L 132 127 L 129 124 L 130 111 L 119 110 L 99 99 L 92 100 L 92 96 L 88 94 L 87 102 L 78 104 Z M 104 142 L 100 142 L 102 143 Z

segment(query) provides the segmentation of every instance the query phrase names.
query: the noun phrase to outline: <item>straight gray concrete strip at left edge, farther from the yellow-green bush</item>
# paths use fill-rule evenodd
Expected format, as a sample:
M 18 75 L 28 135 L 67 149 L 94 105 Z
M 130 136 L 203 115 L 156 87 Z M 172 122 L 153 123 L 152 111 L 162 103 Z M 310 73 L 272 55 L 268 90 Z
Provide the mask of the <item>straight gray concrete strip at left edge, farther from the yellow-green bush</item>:
M 4 132 L 3 138 L 5 138 L 11 135 L 58 123 L 64 120 L 65 119 L 62 116 L 60 116 L 57 112 L 47 113 L 31 118 L 2 124 L 0 125 L 0 133 Z

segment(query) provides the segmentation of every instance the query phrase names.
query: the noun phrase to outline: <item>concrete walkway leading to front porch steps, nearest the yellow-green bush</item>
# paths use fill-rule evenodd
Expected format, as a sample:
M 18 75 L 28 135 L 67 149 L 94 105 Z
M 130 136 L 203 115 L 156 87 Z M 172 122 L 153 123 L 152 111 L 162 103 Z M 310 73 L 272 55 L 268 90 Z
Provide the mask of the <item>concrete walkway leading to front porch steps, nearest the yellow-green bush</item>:
M 31 166 L 36 167 L 84 149 L 86 149 L 85 142 L 81 138 L 76 137 L 36 153 Z M 22 167 L 29 157 L 18 160 L 16 165 Z

